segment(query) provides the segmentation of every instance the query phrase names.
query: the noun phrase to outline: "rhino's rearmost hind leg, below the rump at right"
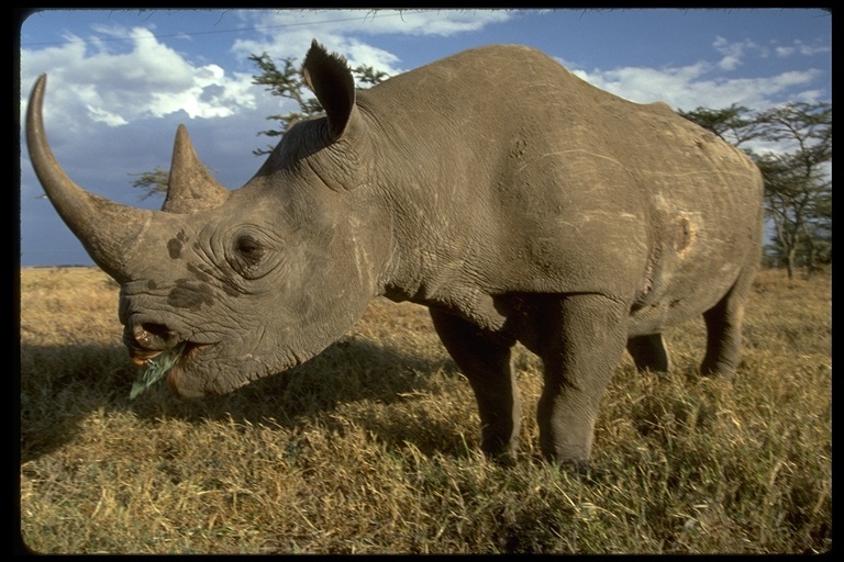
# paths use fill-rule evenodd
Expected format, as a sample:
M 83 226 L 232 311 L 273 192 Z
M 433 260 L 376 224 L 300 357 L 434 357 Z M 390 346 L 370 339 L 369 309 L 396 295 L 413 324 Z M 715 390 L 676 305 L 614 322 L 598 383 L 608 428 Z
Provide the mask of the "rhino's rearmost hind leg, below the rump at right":
M 707 323 L 707 355 L 700 366 L 701 374 L 726 378 L 735 374 L 742 346 L 744 303 L 755 273 L 755 269 L 742 272 L 724 297 L 703 313 Z

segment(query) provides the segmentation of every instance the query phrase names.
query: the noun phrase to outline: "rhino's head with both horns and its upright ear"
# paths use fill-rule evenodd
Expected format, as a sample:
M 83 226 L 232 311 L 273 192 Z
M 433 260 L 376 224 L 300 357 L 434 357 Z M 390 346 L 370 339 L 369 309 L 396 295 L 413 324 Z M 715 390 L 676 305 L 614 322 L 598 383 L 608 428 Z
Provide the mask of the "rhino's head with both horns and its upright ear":
M 135 362 L 185 344 L 168 376 L 180 395 L 225 393 L 308 359 L 377 292 L 382 244 L 352 74 L 314 42 L 303 76 L 326 116 L 295 125 L 241 189 L 216 183 L 180 126 L 162 211 L 74 183 L 44 133 L 46 77 L 33 89 L 26 134 L 36 175 L 91 258 L 121 283 L 123 341 Z

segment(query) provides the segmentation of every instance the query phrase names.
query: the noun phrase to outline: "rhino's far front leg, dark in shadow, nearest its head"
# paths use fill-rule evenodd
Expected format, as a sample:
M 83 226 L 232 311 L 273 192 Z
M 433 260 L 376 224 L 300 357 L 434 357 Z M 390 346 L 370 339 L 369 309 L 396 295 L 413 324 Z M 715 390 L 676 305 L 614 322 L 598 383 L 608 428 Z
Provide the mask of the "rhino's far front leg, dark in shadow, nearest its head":
M 514 339 L 484 331 L 453 314 L 431 308 L 440 339 L 475 391 L 481 424 L 481 449 L 508 461 L 519 447 L 521 406 L 510 351 Z

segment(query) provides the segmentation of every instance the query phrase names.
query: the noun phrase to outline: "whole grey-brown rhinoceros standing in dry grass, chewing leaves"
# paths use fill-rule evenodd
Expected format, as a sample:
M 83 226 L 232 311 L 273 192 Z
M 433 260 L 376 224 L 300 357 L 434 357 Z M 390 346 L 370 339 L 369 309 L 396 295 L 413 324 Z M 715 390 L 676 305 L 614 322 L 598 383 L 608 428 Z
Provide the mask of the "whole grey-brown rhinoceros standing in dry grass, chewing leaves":
M 121 283 L 135 362 L 188 342 L 168 375 L 176 393 L 299 364 L 376 295 L 430 307 L 497 458 L 518 445 L 517 341 L 545 367 L 542 450 L 566 463 L 588 461 L 625 348 L 640 369 L 666 370 L 662 333 L 702 315 L 701 371 L 734 373 L 762 237 L 762 179 L 741 151 L 521 46 L 355 91 L 345 59 L 314 42 L 302 72 L 326 117 L 295 125 L 234 191 L 179 127 L 160 212 L 73 183 L 44 134 L 45 77 L 33 90 L 37 176 Z

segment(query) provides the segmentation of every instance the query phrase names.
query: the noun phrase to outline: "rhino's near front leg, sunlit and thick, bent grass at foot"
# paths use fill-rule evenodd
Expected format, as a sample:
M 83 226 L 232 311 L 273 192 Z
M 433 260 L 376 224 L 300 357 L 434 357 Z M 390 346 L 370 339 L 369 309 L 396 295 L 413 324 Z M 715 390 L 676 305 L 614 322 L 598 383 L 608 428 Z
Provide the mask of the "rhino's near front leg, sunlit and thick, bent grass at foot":
M 624 353 L 628 308 L 599 294 L 578 294 L 562 297 L 544 315 L 545 386 L 536 418 L 545 457 L 588 465 L 598 406 Z

